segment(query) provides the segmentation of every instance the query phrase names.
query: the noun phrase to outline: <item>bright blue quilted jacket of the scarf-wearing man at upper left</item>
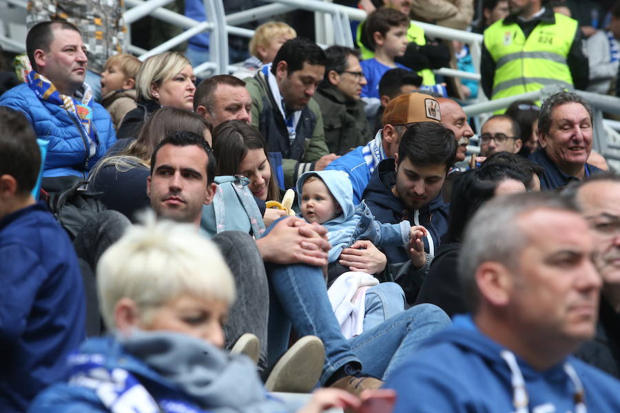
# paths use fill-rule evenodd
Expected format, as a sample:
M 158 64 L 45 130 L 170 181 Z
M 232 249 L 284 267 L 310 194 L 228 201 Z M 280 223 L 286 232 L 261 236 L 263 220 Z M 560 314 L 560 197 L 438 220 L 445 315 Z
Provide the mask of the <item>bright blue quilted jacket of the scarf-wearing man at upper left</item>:
M 44 177 L 75 175 L 85 178 L 88 171 L 116 141 L 110 114 L 99 103 L 93 104 L 93 124 L 97 150 L 88 157 L 87 139 L 79 129 L 79 119 L 65 109 L 39 100 L 23 83 L 0 96 L 0 106 L 19 110 L 30 121 L 37 138 L 48 140 Z

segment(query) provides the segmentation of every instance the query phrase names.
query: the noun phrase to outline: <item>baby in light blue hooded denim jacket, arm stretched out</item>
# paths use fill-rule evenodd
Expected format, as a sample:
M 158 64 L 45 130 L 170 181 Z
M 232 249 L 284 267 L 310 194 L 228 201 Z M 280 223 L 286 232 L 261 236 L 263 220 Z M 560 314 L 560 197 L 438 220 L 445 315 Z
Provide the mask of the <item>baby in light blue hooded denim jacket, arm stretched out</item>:
M 297 180 L 297 192 L 305 220 L 327 228 L 331 244 L 329 262 L 338 260 L 342 250 L 357 240 L 370 240 L 375 246 L 409 246 L 410 253 L 420 253 L 420 248 L 416 247 L 422 244 L 422 237 L 426 236 L 424 226 L 411 226 L 407 221 L 382 224 L 375 220 L 363 200 L 357 206 L 353 204 L 353 186 L 343 171 L 303 173 Z

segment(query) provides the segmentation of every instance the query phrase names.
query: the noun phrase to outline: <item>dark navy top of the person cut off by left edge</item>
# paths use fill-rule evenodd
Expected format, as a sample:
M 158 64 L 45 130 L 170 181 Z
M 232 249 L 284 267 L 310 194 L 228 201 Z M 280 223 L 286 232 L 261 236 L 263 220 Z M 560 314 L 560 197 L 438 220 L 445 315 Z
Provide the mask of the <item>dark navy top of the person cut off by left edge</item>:
M 0 219 L 0 410 L 24 412 L 65 374 L 85 339 L 85 302 L 67 233 L 42 203 Z

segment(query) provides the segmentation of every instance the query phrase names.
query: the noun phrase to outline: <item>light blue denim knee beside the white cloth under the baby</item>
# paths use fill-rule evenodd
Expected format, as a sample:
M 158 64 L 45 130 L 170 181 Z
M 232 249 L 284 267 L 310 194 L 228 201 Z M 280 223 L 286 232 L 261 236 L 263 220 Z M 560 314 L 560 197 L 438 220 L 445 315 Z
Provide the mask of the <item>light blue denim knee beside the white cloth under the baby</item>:
M 395 282 L 382 282 L 366 290 L 364 307 L 364 331 L 368 331 L 404 311 L 404 291 Z

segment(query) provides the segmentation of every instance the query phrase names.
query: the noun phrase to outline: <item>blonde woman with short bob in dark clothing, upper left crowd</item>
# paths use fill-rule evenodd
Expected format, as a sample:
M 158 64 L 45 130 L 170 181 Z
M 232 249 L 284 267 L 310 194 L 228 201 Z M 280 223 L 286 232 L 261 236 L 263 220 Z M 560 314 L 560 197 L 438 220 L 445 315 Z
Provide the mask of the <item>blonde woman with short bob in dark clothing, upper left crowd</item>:
M 178 52 L 147 59 L 136 76 L 136 109 L 125 116 L 116 138 L 135 139 L 151 114 L 162 106 L 194 109 L 196 76 L 189 60 Z

